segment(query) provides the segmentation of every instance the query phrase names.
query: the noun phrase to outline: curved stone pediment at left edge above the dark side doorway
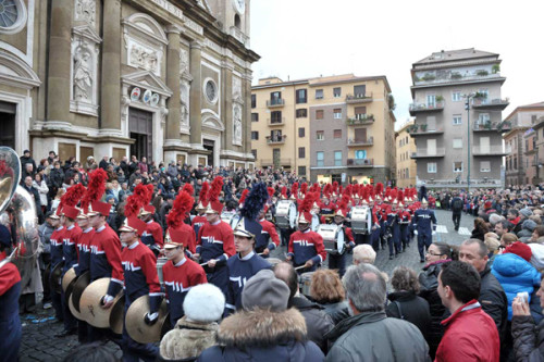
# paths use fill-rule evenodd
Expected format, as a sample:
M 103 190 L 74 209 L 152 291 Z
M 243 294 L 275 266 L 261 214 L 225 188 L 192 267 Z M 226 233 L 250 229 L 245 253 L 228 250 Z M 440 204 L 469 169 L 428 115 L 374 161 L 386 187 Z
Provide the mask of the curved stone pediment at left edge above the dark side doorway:
M 0 83 L 32 89 L 41 84 L 34 70 L 18 57 L 0 49 Z

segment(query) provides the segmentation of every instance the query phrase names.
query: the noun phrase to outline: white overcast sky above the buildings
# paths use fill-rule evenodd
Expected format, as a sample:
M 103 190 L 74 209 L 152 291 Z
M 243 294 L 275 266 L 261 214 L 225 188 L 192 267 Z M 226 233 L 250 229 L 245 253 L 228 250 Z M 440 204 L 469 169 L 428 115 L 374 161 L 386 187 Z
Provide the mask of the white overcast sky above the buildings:
M 254 84 L 354 73 L 385 75 L 397 126 L 409 117 L 411 64 L 441 50 L 498 53 L 503 98 L 544 101 L 544 1 L 251 0 Z

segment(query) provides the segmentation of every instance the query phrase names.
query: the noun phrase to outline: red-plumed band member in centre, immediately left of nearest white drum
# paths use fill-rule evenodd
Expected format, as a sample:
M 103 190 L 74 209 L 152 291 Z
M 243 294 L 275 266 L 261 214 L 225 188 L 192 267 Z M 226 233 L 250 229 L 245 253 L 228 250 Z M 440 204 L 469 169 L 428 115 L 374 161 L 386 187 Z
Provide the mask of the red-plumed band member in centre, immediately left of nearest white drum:
M 316 271 L 318 265 L 326 259 L 323 238 L 321 235 L 310 229 L 310 212 L 300 212 L 298 217 L 298 230 L 293 233 L 289 238 L 286 260 L 293 260 L 295 267 L 305 265 L 302 270 L 298 270 L 299 273 Z

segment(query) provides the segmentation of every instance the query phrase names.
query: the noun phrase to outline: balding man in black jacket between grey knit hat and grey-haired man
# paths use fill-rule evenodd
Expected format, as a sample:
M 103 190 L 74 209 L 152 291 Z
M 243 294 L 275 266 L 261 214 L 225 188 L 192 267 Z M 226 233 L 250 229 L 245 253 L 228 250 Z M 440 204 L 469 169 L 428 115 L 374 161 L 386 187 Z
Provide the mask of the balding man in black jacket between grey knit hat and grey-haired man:
M 292 264 L 281 262 L 274 266 L 275 277 L 289 287 L 289 307 L 296 308 L 305 317 L 308 327 L 308 339 L 313 341 L 326 353 L 327 346 L 324 335 L 334 327 L 332 319 L 323 308 L 309 301 L 298 292 L 298 274 Z

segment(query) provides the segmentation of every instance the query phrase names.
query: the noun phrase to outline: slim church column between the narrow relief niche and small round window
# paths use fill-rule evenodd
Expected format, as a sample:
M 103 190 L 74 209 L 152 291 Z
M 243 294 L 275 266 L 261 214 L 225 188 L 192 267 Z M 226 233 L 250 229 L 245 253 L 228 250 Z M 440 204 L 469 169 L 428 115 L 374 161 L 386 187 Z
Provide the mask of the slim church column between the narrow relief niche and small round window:
M 193 41 L 190 43 L 190 75 L 193 84 L 190 86 L 190 142 L 200 145 L 202 142 L 202 72 L 200 61 L 202 57 L 202 43 Z

